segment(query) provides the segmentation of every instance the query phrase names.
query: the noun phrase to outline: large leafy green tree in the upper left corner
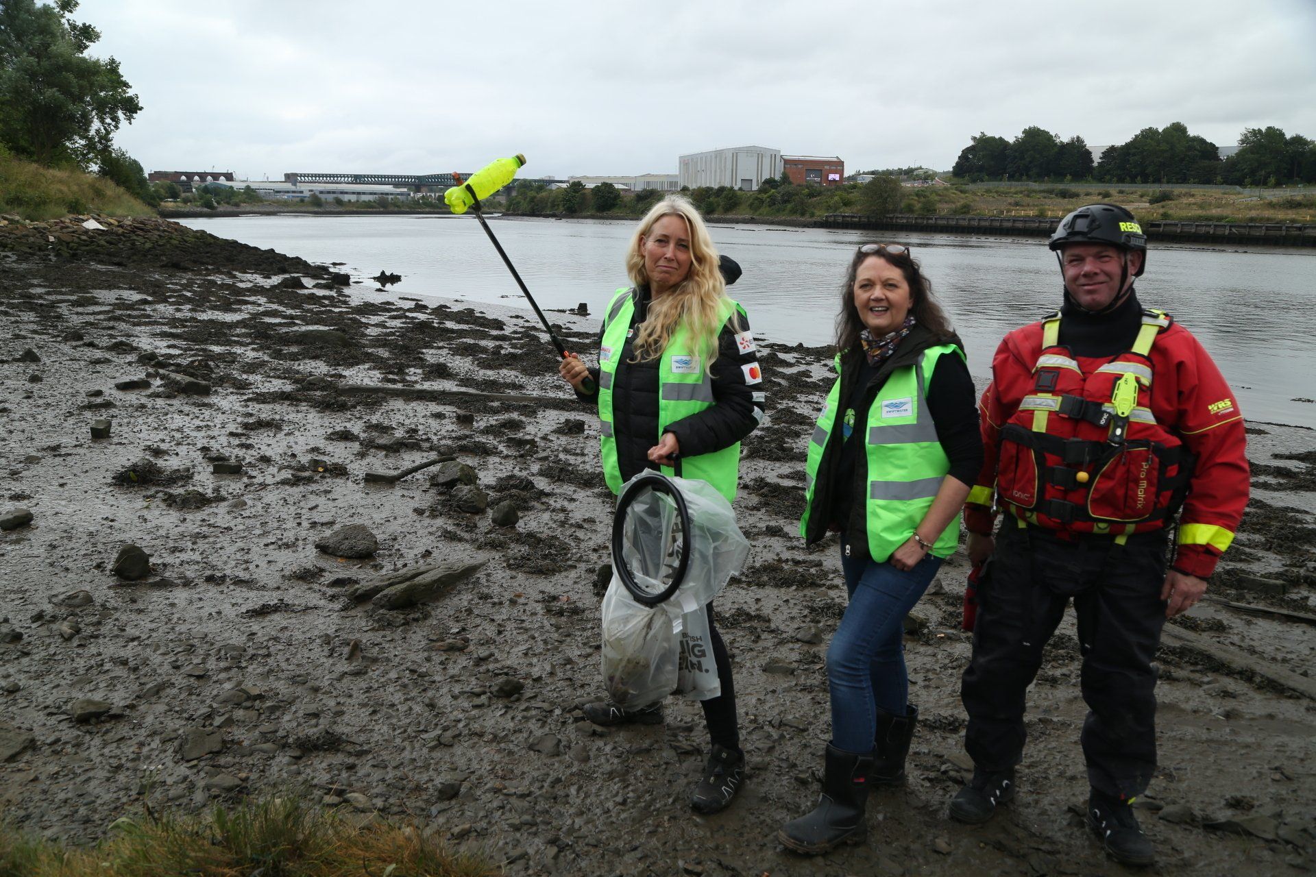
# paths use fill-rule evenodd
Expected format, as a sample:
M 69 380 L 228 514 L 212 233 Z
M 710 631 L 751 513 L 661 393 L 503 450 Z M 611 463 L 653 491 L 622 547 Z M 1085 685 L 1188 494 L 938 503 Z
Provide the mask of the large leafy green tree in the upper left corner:
M 0 142 L 41 164 L 89 166 L 142 109 L 117 60 L 86 57 L 100 33 L 70 18 L 76 8 L 0 3 Z

